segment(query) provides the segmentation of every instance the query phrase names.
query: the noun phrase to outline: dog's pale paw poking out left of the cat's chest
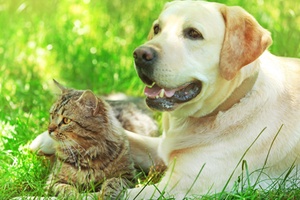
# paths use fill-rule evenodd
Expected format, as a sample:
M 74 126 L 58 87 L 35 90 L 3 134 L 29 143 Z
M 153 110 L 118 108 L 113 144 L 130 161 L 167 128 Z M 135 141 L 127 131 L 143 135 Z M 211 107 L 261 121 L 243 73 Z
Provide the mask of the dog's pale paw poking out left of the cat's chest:
M 54 141 L 48 131 L 38 135 L 30 144 L 29 149 L 39 154 L 52 155 L 55 153 Z

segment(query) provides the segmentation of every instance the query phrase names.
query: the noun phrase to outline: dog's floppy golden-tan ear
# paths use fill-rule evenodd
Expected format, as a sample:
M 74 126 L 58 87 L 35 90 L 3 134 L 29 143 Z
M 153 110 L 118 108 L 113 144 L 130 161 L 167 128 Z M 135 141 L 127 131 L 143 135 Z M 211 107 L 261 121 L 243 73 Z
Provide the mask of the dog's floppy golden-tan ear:
M 227 80 L 256 60 L 272 43 L 270 33 L 244 9 L 222 6 L 225 36 L 220 55 L 220 73 Z

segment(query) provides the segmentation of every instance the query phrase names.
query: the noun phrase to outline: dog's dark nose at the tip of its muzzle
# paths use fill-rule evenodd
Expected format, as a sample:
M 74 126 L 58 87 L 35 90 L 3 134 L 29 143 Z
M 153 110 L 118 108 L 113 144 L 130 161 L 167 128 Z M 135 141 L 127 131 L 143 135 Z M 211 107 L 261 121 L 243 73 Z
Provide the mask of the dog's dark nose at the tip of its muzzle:
M 157 53 L 152 47 L 141 46 L 133 52 L 136 66 L 148 67 L 155 62 Z

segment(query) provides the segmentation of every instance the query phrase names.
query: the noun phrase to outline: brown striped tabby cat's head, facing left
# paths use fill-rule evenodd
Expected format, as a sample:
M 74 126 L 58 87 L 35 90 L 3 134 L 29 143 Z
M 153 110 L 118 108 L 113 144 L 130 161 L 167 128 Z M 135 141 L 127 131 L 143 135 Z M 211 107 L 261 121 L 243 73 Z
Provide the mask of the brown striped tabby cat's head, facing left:
M 110 107 L 89 90 L 68 89 L 54 80 L 61 95 L 50 109 L 48 132 L 57 142 L 81 146 L 111 129 Z

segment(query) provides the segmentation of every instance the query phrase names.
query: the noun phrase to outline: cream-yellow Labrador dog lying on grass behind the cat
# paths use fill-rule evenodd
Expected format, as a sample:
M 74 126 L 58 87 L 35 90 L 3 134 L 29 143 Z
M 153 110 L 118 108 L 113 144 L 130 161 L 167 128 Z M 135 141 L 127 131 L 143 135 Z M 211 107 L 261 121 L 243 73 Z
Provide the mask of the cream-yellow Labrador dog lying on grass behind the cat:
M 247 168 L 267 187 L 300 164 L 300 60 L 270 54 L 270 33 L 240 7 L 167 3 L 134 51 L 146 102 L 163 111 L 163 136 L 128 132 L 135 162 L 163 161 L 155 185 L 129 199 L 200 196 L 232 189 Z M 32 145 L 53 152 L 47 134 Z M 248 182 L 248 181 L 247 181 Z M 240 183 L 243 184 L 243 183 Z

